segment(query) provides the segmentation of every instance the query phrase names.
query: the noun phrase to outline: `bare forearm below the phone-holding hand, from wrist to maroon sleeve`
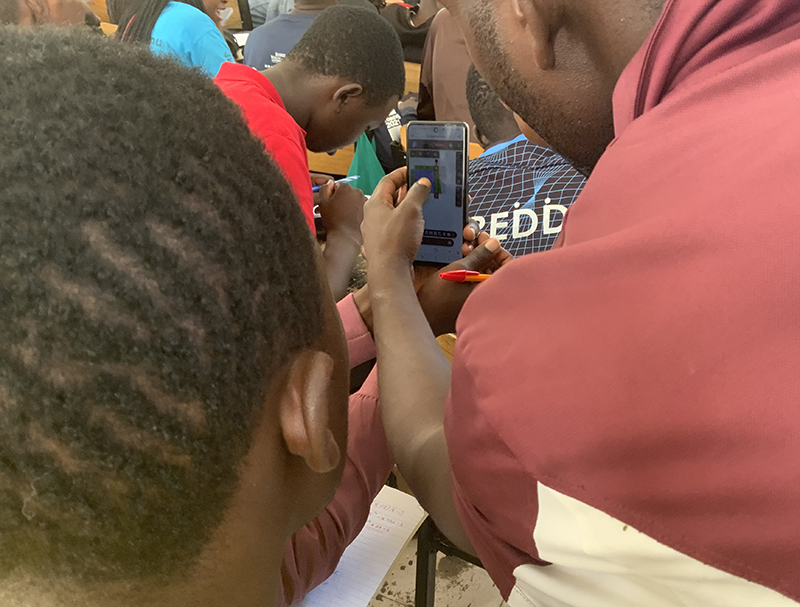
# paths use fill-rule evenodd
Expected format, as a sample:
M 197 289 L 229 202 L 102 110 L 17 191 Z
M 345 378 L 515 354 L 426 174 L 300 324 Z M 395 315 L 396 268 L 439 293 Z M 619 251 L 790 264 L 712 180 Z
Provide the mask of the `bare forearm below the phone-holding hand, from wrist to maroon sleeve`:
M 419 306 L 407 268 L 370 268 L 381 415 L 401 474 L 439 528 L 471 551 L 453 506 L 444 438 L 450 364 Z

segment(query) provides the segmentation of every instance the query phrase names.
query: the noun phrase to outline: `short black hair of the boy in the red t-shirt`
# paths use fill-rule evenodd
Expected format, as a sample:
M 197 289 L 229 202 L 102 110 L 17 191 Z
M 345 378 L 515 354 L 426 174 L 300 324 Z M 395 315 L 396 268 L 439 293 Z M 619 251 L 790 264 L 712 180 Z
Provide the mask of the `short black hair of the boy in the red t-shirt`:
M 373 10 L 331 6 L 322 11 L 286 55 L 309 73 L 347 78 L 364 89 L 367 105 L 402 97 L 403 47 L 389 22 Z

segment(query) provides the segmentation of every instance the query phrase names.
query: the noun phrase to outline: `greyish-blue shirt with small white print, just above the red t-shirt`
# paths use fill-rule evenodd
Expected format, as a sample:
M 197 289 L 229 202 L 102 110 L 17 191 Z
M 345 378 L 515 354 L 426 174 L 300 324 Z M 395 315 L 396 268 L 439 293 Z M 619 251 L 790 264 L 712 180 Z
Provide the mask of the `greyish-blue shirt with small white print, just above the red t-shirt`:
M 279 15 L 250 32 L 244 63 L 259 71 L 280 63 L 306 33 L 319 13 Z

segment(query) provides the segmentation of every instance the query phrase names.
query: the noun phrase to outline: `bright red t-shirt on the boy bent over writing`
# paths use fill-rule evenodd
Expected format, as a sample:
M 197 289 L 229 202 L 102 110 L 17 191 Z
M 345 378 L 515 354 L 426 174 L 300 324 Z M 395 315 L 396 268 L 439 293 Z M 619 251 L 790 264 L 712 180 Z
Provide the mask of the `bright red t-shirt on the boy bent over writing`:
M 225 63 L 214 82 L 242 108 L 247 125 L 264 142 L 267 152 L 283 171 L 308 227 L 315 232 L 306 132 L 286 111 L 278 91 L 261 72 L 245 65 Z

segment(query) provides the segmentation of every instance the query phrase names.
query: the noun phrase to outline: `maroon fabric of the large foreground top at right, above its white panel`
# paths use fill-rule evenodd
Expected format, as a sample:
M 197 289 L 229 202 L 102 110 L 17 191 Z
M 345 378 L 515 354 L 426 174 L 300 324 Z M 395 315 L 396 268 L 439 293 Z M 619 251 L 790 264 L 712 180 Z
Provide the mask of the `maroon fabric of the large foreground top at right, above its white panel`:
M 536 566 L 546 489 L 800 600 L 798 108 L 797 0 L 668 0 L 563 246 L 468 300 L 445 432 L 504 596 L 568 567 Z

